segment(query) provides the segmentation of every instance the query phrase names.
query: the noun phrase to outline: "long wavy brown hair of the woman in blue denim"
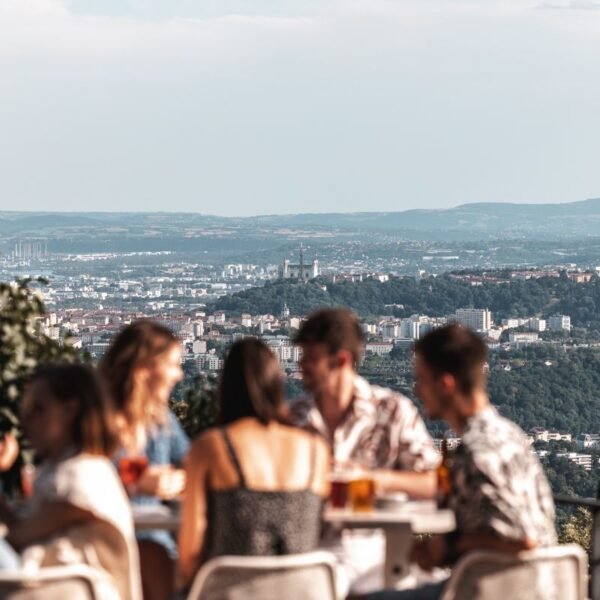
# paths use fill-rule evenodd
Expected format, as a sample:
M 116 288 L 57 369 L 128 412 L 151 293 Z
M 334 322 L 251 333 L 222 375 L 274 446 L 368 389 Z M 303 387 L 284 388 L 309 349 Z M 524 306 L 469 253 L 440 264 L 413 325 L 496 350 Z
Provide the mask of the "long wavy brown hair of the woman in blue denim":
M 123 328 L 100 361 L 99 371 L 117 411 L 129 425 L 161 423 L 161 407 L 152 404 L 148 390 L 136 386 L 136 372 L 149 368 L 179 340 L 154 321 L 140 319 Z

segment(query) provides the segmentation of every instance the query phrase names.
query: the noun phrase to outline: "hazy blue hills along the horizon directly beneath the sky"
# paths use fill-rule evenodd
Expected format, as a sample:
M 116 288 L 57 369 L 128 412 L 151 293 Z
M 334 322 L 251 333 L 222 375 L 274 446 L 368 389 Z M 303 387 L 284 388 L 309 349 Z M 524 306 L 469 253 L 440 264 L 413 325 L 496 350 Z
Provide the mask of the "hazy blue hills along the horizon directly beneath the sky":
M 282 230 L 339 232 L 381 231 L 408 239 L 489 240 L 495 238 L 560 239 L 600 235 L 600 198 L 565 204 L 464 204 L 449 209 L 398 212 L 308 213 L 218 217 L 199 213 L 25 213 L 0 212 L 0 235 L 43 234 L 94 228 L 106 233 L 131 228 L 143 235 L 169 231 L 243 232 L 269 236 Z M 130 232 L 132 233 L 132 232 Z

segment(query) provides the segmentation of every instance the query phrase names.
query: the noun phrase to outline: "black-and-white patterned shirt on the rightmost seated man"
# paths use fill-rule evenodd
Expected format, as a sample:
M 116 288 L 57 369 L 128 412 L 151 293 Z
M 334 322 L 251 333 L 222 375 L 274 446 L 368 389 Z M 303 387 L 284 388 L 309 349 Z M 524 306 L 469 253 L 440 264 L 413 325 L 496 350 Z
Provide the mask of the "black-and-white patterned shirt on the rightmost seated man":
M 556 544 L 554 501 L 523 432 L 489 407 L 472 417 L 452 465 L 457 533 Z

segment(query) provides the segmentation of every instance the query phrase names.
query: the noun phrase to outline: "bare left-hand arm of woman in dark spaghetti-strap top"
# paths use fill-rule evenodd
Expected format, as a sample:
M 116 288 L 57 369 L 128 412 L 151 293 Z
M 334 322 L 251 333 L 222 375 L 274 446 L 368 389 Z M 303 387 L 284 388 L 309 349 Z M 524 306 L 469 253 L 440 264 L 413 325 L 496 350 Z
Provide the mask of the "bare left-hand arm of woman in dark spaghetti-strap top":
M 208 465 L 214 450 L 210 433 L 198 438 L 186 461 L 186 490 L 179 529 L 179 570 L 184 586 L 191 585 L 200 567 L 206 534 Z

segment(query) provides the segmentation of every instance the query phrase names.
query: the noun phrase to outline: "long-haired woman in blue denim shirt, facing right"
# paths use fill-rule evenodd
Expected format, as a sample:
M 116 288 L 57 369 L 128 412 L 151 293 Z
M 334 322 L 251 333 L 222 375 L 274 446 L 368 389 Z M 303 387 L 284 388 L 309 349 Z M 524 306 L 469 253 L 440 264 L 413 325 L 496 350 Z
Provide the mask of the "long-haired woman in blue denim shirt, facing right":
M 183 460 L 189 440 L 169 411 L 173 387 L 183 376 L 181 344 L 166 327 L 139 320 L 113 340 L 100 374 L 118 413 L 118 459 L 142 459 L 148 467 L 128 482 L 134 504 L 177 498 L 185 486 Z M 164 600 L 175 585 L 177 546 L 167 531 L 138 533 L 144 598 Z

